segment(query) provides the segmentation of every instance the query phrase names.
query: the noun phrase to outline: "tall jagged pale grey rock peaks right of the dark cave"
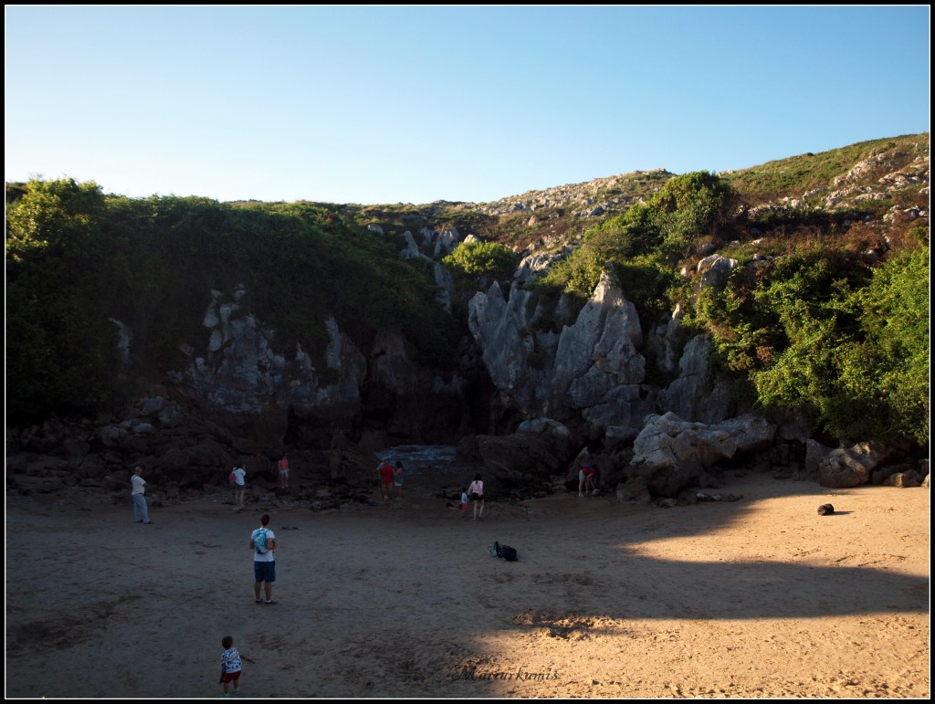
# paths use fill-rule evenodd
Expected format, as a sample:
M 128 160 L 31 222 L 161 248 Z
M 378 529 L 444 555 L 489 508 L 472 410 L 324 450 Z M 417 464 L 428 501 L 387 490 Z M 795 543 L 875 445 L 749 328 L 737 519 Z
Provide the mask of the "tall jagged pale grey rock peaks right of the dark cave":
M 639 316 L 606 274 L 576 314 L 565 298 L 554 309 L 533 300 L 533 292 L 514 283 L 509 297 L 495 284 L 469 302 L 469 329 L 490 378 L 525 417 L 580 424 L 586 438 L 597 439 L 611 426 L 635 436 L 650 413 L 671 410 L 690 421 L 719 423 L 741 410 L 730 381 L 712 373 L 711 343 L 701 336 L 684 345 L 678 377 L 668 387 L 644 382 Z M 663 369 L 676 368 L 681 317 L 676 310 L 651 337 Z M 561 331 L 542 330 L 543 321 L 557 321 Z

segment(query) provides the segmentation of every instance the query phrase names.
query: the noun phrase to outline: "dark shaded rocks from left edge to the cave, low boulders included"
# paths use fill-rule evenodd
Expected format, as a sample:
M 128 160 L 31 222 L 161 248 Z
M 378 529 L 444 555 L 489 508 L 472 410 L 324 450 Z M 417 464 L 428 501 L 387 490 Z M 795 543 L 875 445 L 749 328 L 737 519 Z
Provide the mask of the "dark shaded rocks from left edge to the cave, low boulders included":
M 234 466 L 245 467 L 252 480 L 267 473 L 275 480 L 272 467 L 287 447 L 339 459 L 345 438 L 364 437 L 371 426 L 384 442 L 453 442 L 464 431 L 473 410 L 464 400 L 468 381 L 415 364 L 401 335 L 378 332 L 362 352 L 329 319 L 324 364 L 316 368 L 300 345 L 278 348 L 275 331 L 241 306 L 244 294 L 242 286 L 228 295 L 212 292 L 202 318 L 206 338 L 197 348 L 203 352 L 185 346 L 189 364 L 169 372 L 165 383 L 94 423 L 53 418 L 8 433 L 7 453 L 61 456 L 69 474 L 89 481 L 139 464 L 154 485 L 184 492 L 223 485 Z M 122 350 L 132 361 L 132 331 L 124 333 Z M 463 356 L 471 369 L 471 355 Z M 335 461 L 332 480 L 363 481 L 351 464 Z

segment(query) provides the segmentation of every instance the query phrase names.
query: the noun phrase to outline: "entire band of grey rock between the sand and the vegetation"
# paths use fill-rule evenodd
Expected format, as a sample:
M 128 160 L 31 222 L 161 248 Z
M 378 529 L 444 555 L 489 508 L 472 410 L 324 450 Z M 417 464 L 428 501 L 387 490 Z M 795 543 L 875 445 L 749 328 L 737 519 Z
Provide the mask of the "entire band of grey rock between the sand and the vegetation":
M 576 485 L 587 459 L 603 488 L 640 502 L 715 485 L 712 467 L 743 457 L 764 469 L 798 467 L 798 447 L 824 486 L 928 485 L 928 463 L 884 467 L 885 452 L 866 443 L 831 450 L 795 419 L 775 426 L 743 412 L 730 381 L 712 374 L 710 342 L 680 338 L 678 310 L 644 338 L 633 304 L 606 278 L 577 311 L 565 299 L 533 305 L 516 284 L 509 296 L 498 284 L 475 295 L 473 339 L 444 371 L 415 364 L 398 334 L 378 333 L 362 351 L 333 320 L 326 367 L 316 369 L 299 346 L 276 350 L 273 333 L 237 306 L 212 303 L 205 356 L 190 354 L 186 368 L 125 408 L 94 422 L 8 430 L 7 490 L 87 486 L 122 496 L 141 465 L 162 487 L 155 500 L 223 490 L 235 466 L 272 492 L 285 449 L 305 477 L 356 490 L 372 486 L 374 453 L 400 443 L 457 443 L 459 456 L 482 462 L 504 487 L 556 476 Z M 665 387 L 646 382 L 645 349 L 669 373 Z

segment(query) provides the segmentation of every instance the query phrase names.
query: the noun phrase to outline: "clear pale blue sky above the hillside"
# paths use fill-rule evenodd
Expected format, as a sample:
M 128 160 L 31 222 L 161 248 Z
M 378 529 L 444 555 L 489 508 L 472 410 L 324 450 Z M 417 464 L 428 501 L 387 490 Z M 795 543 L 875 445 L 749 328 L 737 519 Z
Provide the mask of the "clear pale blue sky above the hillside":
M 928 132 L 930 9 L 6 6 L 6 180 L 486 202 Z

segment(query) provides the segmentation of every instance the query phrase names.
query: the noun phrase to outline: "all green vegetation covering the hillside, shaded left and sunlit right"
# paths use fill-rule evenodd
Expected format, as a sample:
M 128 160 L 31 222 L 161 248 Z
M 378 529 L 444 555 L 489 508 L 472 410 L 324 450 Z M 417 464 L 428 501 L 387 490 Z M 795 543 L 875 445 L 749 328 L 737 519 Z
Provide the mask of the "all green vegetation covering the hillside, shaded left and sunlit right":
M 681 304 L 684 331 L 712 338 L 716 363 L 764 413 L 794 409 L 814 431 L 841 438 L 925 444 L 927 158 L 925 134 L 722 176 L 614 177 L 520 196 L 541 198 L 535 221 L 509 199 L 481 212 L 444 202 L 129 199 L 73 180 L 7 184 L 7 419 L 89 412 L 137 378 L 180 368 L 183 345 L 205 352 L 211 292 L 231 300 L 239 284 L 243 309 L 276 331 L 277 352 L 300 344 L 319 369 L 330 315 L 362 349 L 377 331 L 398 331 L 420 363 L 451 365 L 466 334 L 463 311 L 445 315 L 432 263 L 399 251 L 407 229 L 453 226 L 483 238 L 443 260 L 462 298 L 511 279 L 517 252 L 536 245 L 560 254 L 533 284 L 541 299 L 583 302 L 606 271 L 644 331 Z M 838 188 L 856 196 L 843 208 L 823 200 Z M 629 205 L 604 218 L 570 215 L 598 192 Z M 702 246 L 739 266 L 725 287 L 699 293 L 684 272 Z M 113 321 L 133 333 L 134 368 L 122 366 Z M 541 324 L 558 325 L 548 315 Z

